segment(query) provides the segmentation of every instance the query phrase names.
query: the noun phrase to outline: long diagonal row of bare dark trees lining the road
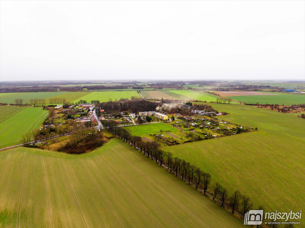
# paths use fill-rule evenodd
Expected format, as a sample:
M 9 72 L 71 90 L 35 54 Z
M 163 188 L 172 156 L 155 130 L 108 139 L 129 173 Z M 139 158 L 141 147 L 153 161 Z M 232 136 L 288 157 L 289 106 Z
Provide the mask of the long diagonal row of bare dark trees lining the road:
M 157 142 L 143 142 L 139 136 L 131 135 L 131 133 L 122 128 L 117 127 L 115 121 L 102 121 L 102 125 L 114 135 L 117 135 L 120 139 L 127 142 L 129 145 L 134 146 L 141 153 L 146 155 L 151 160 L 156 160 L 156 163 L 160 163 L 160 166 L 164 165 L 170 173 L 176 174 L 182 178 L 183 181 L 188 181 L 189 185 L 196 186 L 196 189 L 200 188 L 203 194 L 208 192 L 213 200 L 217 199 L 217 202 L 222 207 L 226 206 L 231 209 L 232 213 L 239 211 L 244 215 L 247 211 L 252 209 L 253 204 L 248 196 L 242 195 L 239 190 L 235 190 L 233 194 L 227 188 L 223 187 L 220 183 L 216 182 L 213 186 L 210 186 L 211 175 L 204 172 L 199 167 L 182 160 L 178 157 L 173 157 L 172 153 L 164 152 L 159 148 Z M 262 206 L 260 206 L 262 208 Z M 238 212 L 238 214 L 240 214 Z

